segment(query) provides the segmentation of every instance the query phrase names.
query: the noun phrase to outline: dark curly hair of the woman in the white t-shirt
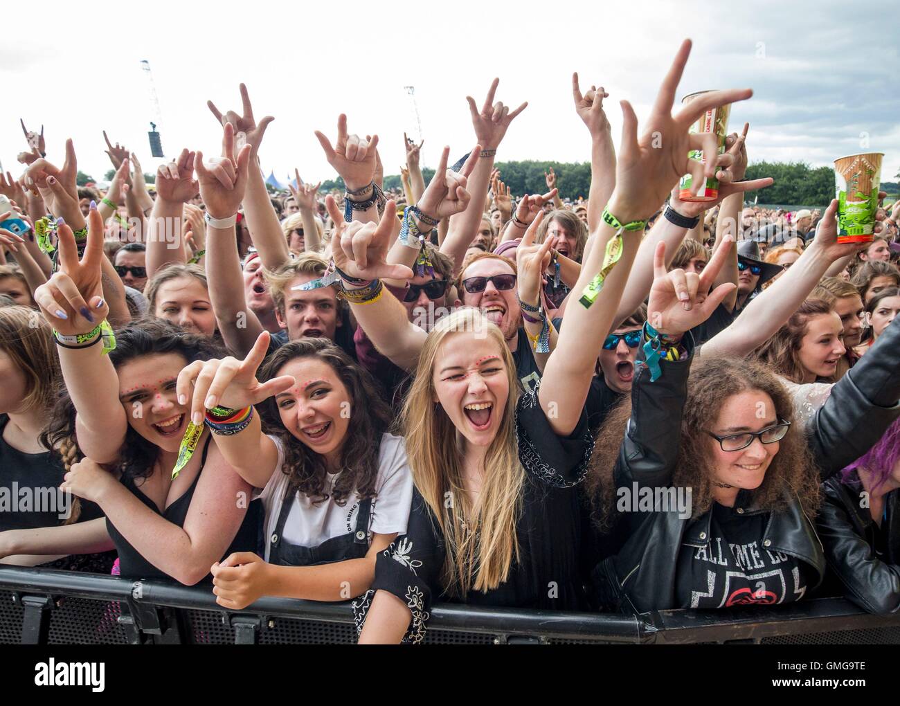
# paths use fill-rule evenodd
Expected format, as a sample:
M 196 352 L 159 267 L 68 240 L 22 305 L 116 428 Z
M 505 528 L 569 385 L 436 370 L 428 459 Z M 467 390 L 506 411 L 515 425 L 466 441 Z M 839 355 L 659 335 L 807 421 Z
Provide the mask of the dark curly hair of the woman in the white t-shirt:
M 302 338 L 284 344 L 263 363 L 259 380 L 265 382 L 277 378 L 285 364 L 298 358 L 313 358 L 327 363 L 347 388 L 351 409 L 360 410 L 350 416 L 347 436 L 341 445 L 340 468 L 343 470 L 331 491 L 335 502 L 345 505 L 354 490 L 360 498 L 374 497 L 382 434 L 392 424 L 391 407 L 384 401 L 378 383 L 328 338 Z M 284 428 L 275 398 L 266 399 L 259 406 L 259 411 L 266 433 L 277 436 L 282 442 L 282 472 L 289 477 L 291 492 L 301 491 L 315 503 L 327 500 L 329 494 L 325 492 L 325 481 L 328 465 L 325 457 L 312 451 Z

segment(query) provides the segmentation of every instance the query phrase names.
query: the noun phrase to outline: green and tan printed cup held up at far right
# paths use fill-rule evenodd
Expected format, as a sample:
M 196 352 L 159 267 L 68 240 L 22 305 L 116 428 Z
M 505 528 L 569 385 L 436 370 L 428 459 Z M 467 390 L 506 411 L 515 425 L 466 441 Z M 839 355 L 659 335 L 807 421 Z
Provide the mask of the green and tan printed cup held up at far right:
M 883 152 L 863 152 L 834 160 L 839 243 L 872 242 L 883 156 Z

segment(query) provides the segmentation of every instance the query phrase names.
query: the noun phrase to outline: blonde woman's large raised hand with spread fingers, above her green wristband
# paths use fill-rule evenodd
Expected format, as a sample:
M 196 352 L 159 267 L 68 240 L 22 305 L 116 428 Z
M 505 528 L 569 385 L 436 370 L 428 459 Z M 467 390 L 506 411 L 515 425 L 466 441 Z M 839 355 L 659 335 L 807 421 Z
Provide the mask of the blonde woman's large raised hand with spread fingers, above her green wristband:
M 610 212 L 621 222 L 649 218 L 683 174 L 692 174 L 692 190 L 696 193 L 703 176 L 713 176 L 716 160 L 706 164 L 690 159 L 691 149 L 707 155 L 717 154 L 716 135 L 689 134 L 690 126 L 711 108 L 750 98 L 752 91 L 735 89 L 702 94 L 672 116 L 675 92 L 690 54 L 690 40 L 684 40 L 663 79 L 660 92 L 653 103 L 644 135 L 638 139 L 637 116 L 631 103 L 622 101 L 622 145 L 616 169 L 616 189 L 609 201 Z

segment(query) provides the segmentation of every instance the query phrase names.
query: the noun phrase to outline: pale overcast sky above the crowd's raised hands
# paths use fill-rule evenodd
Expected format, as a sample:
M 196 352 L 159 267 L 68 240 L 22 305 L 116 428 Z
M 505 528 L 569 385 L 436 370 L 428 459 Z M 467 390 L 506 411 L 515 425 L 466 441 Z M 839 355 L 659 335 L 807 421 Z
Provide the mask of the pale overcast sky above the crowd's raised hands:
M 350 132 L 377 133 L 385 172 L 403 162 L 403 131 L 418 134 L 423 165 L 439 149 L 473 145 L 465 95 L 481 104 L 493 76 L 498 99 L 528 107 L 507 133 L 499 161 L 590 158 L 590 139 L 572 107 L 572 71 L 604 85 L 618 143 L 618 99 L 643 121 L 680 40 L 694 49 L 679 97 L 751 87 L 731 128 L 750 121 L 752 161 L 831 165 L 861 151 L 884 152 L 882 179 L 900 168 L 896 6 L 838 2 L 670 3 L 445 0 L 437 3 L 161 2 L 4 4 L 0 160 L 15 161 L 31 130 L 45 126 L 48 158 L 61 165 L 75 140 L 78 166 L 96 179 L 111 167 L 102 130 L 136 151 L 144 171 L 154 112 L 139 61 L 152 69 L 166 156 L 181 147 L 215 154 L 220 144 L 206 100 L 239 110 L 249 88 L 257 119 L 275 116 L 260 156 L 282 181 L 331 178 L 313 130 L 333 140 L 339 112 Z M 868 140 L 868 144 L 866 142 Z

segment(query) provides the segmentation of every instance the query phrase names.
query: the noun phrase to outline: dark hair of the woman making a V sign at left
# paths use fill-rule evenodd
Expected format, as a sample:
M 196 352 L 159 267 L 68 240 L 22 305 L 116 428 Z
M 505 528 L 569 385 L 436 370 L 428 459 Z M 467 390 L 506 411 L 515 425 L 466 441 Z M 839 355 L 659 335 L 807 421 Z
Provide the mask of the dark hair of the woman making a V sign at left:
M 184 357 L 185 365 L 193 361 L 220 358 L 225 352 L 209 338 L 191 334 L 162 319 L 142 319 L 115 332 L 115 349 L 110 351 L 113 367 L 144 355 L 176 353 Z M 57 403 L 47 431 L 41 439 L 49 448 L 62 445 L 70 449 L 75 442 L 75 405 L 65 385 L 58 386 Z M 130 419 L 130 417 L 129 417 Z M 74 454 L 71 454 L 73 459 Z M 117 466 L 123 478 L 148 478 L 159 458 L 159 447 L 148 442 L 129 423 L 125 432 Z M 71 462 L 74 462 L 72 460 Z

